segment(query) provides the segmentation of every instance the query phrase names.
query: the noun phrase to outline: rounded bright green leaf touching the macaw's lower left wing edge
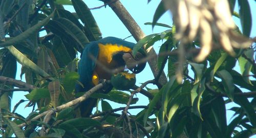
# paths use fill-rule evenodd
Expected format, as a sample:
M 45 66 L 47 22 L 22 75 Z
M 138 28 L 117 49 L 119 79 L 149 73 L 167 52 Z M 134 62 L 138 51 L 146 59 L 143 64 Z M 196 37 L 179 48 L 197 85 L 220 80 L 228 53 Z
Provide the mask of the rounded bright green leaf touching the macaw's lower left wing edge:
M 63 79 L 63 87 L 67 93 L 72 93 L 72 91 L 75 89 L 75 85 L 78 79 L 79 75 L 77 72 L 70 72 L 65 75 L 65 78 Z

